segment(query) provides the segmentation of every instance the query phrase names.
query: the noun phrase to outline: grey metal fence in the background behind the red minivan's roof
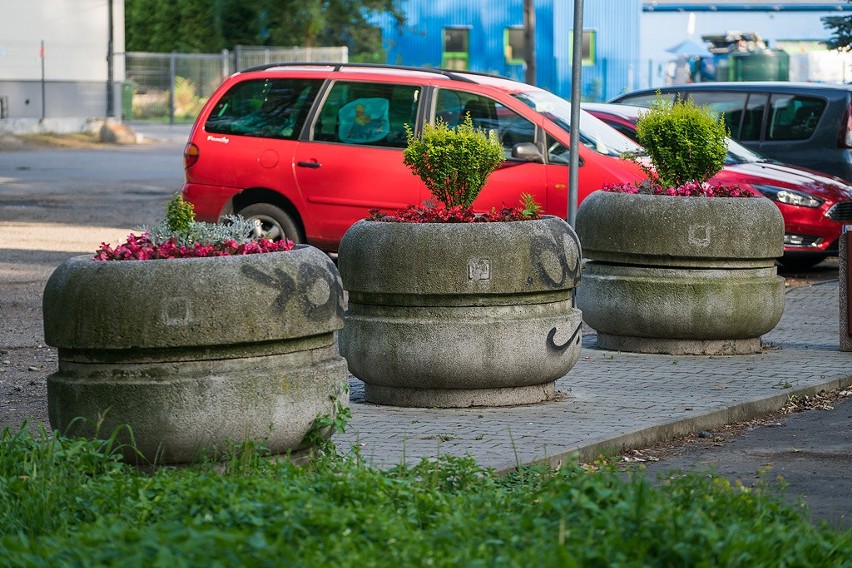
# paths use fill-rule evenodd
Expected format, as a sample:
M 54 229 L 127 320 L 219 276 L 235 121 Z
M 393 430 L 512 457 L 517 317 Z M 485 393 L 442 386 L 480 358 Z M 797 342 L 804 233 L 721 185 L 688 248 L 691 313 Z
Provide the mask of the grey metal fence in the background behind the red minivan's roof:
M 131 119 L 192 121 L 233 72 L 269 63 L 346 63 L 346 47 L 255 47 L 238 45 L 222 53 L 124 54 L 127 80 L 121 89 L 121 115 Z

